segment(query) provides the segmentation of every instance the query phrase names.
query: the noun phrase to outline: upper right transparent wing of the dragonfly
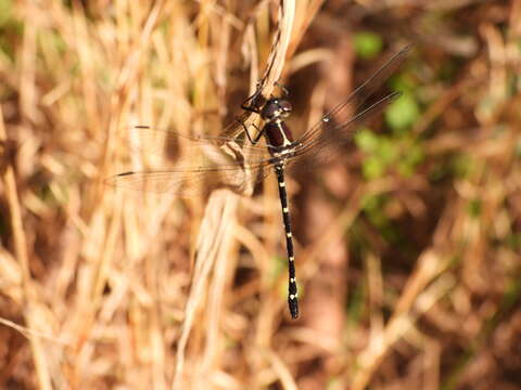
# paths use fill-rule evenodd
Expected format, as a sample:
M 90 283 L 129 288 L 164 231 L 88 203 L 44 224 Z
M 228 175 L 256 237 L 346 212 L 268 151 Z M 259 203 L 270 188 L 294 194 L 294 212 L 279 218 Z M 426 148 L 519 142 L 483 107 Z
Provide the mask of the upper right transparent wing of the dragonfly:
M 372 95 L 385 80 L 402 65 L 407 57 L 411 44 L 405 47 L 399 52 L 394 54 L 380 69 L 378 69 L 366 82 L 354 90 L 343 102 L 336 105 L 333 109 L 327 113 L 318 123 L 308 129 L 298 140 L 302 144 L 313 144 L 315 138 L 320 138 L 321 133 L 334 132 L 344 128 L 352 121 L 339 125 L 341 121 L 341 114 L 350 105 L 356 110 L 364 104 L 364 102 Z M 371 106 L 372 107 L 372 106 Z M 364 113 L 364 112 L 363 112 Z M 360 114 L 363 114 L 360 113 Z

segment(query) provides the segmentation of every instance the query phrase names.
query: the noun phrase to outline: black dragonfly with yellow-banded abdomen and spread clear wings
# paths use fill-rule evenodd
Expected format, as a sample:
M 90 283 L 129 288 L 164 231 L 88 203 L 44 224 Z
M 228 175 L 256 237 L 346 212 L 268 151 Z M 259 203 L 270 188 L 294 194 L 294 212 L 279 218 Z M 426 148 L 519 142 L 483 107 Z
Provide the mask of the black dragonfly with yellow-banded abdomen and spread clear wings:
M 257 87 L 257 91 L 241 105 L 244 109 L 242 117 L 225 128 L 224 134 L 229 133 L 230 129 L 242 128 L 240 131 L 245 134 L 242 140 L 238 135 L 189 136 L 149 126 L 134 127 L 129 129 L 129 136 L 140 140 L 143 153 L 180 153 L 188 159 L 185 164 L 177 162 L 168 168 L 126 171 L 106 181 L 116 187 L 192 196 L 216 187 L 228 187 L 243 193 L 275 171 L 285 232 L 288 306 L 291 317 L 295 320 L 298 317 L 298 291 L 284 173 L 288 169 L 298 169 L 301 166 L 314 167 L 331 161 L 335 152 L 341 151 L 339 146 L 350 142 L 352 134 L 363 123 L 399 98 L 402 92 L 395 91 L 370 104 L 366 103 L 399 67 L 410 49 L 411 46 L 407 46 L 391 56 L 370 78 L 296 140 L 285 123 L 292 112 L 289 91 L 280 84 L 277 86 L 281 93 L 270 95 L 269 99 L 263 96 L 262 88 Z M 356 114 L 347 120 L 342 120 L 348 112 L 347 107 Z M 252 114 L 258 115 L 264 123 L 262 128 L 252 123 L 257 130 L 255 136 L 252 136 L 249 126 L 243 120 Z M 263 138 L 266 141 L 265 145 L 259 145 Z

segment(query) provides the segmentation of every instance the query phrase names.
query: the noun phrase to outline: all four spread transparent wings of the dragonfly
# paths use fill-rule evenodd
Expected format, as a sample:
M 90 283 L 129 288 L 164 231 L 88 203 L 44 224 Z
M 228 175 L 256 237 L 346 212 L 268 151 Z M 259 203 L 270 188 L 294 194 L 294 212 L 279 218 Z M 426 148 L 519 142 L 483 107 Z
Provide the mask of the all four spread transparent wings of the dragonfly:
M 358 87 L 350 96 L 326 114 L 322 119 L 295 142 L 294 150 L 283 158 L 288 165 L 306 166 L 327 162 L 336 152 L 339 144 L 351 140 L 351 134 L 361 123 L 378 115 L 399 96 L 391 93 L 359 112 L 352 119 L 339 123 L 340 114 L 353 104 L 358 109 L 361 104 L 391 76 L 402 64 L 410 46 L 396 53 L 369 80 Z M 250 113 L 244 113 L 225 128 L 225 134 L 237 135 Z M 188 136 L 171 131 L 138 126 L 129 130 L 130 144 L 144 154 L 160 155 L 175 159 L 171 169 L 151 169 L 128 171 L 109 178 L 105 182 L 117 187 L 156 193 L 170 192 L 180 196 L 202 193 L 216 187 L 228 187 L 236 192 L 245 192 L 266 177 L 278 161 L 263 145 L 251 145 L 238 141 L 234 136 Z M 306 156 L 307 158 L 298 158 Z M 171 157 L 171 158 L 170 158 Z M 183 160 L 183 157 L 186 159 Z

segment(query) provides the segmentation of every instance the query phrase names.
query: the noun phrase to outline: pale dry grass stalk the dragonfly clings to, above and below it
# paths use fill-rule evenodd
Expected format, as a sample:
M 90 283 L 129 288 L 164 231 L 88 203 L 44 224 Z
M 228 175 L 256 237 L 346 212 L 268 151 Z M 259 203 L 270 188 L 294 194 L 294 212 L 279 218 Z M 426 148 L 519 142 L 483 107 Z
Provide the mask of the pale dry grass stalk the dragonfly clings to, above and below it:
M 275 82 L 279 80 L 282 73 L 285 53 L 291 38 L 294 11 L 294 0 L 281 1 L 279 6 L 279 24 L 275 34 L 274 46 L 268 56 L 268 65 L 262 77 L 264 83 L 259 86 L 263 88 L 263 94 L 269 95 L 269 93 L 271 93 Z M 215 270 L 212 284 L 215 288 L 211 296 L 214 299 L 211 300 L 213 304 L 209 306 L 209 315 L 206 321 L 206 349 L 201 365 L 192 368 L 195 370 L 194 377 L 206 378 L 209 375 L 209 369 L 214 367 L 214 361 L 217 358 L 216 349 L 220 348 L 216 342 L 221 339 L 219 335 L 219 318 L 221 317 L 220 311 L 223 307 L 223 299 L 215 299 L 221 297 L 227 278 L 227 275 L 221 271 L 228 269 L 227 257 L 231 244 L 230 232 L 233 231 L 232 214 L 236 212 L 237 203 L 238 199 L 236 195 L 225 192 L 212 196 L 206 206 L 205 216 L 199 233 L 199 244 L 195 250 L 193 288 L 187 301 L 186 316 L 177 349 L 176 375 L 173 381 L 173 389 L 181 389 L 185 387 L 182 379 L 185 351 L 196 310 L 206 295 L 204 289 L 209 285 L 208 274 L 212 269 Z M 228 234 L 225 232 L 228 232 Z M 220 277 L 217 278 L 217 276 Z M 201 384 L 201 386 L 204 386 L 204 384 Z M 198 385 L 195 385 L 195 388 L 198 388 Z

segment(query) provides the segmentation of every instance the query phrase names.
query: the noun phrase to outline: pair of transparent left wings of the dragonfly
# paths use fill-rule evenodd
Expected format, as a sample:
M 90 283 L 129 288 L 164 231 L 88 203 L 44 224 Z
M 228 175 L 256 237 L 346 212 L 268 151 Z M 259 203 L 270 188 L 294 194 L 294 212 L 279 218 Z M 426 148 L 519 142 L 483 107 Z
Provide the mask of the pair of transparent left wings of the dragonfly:
M 266 146 L 239 145 L 227 136 L 188 136 L 138 126 L 129 130 L 131 148 L 138 148 L 151 169 L 127 171 L 105 180 L 115 187 L 180 196 L 218 187 L 246 192 L 270 172 L 275 159 Z

